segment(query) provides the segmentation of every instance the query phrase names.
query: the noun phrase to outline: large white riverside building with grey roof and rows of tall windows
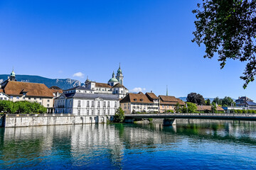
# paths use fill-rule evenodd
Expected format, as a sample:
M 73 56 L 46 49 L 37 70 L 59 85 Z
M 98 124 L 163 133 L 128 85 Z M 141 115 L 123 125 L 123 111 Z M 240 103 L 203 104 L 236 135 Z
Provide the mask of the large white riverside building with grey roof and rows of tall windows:
M 55 99 L 55 113 L 74 115 L 114 115 L 119 108 L 119 98 L 115 94 L 97 93 L 95 90 L 77 86 L 63 91 Z

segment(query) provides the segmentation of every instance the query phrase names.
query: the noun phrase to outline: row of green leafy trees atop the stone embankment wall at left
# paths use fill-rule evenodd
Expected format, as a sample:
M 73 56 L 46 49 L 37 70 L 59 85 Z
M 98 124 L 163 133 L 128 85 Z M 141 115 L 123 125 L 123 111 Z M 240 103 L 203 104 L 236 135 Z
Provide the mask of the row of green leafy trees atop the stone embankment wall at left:
M 46 113 L 47 108 L 29 101 L 0 101 L 0 113 Z

